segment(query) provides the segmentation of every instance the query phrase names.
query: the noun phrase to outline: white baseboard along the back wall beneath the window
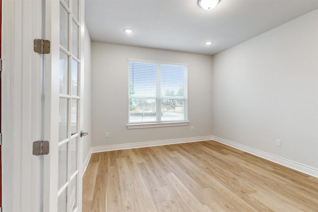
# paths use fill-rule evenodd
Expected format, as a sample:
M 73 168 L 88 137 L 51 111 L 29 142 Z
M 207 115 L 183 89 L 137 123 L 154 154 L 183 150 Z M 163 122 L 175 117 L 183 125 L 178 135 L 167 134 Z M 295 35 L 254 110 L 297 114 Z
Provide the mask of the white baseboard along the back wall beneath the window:
M 112 151 L 112 150 L 120 150 L 120 149 L 131 149 L 131 148 L 141 148 L 141 147 L 149 147 L 149 146 L 161 146 L 167 144 L 175 144 L 175 143 L 188 143 L 188 142 L 196 142 L 196 141 L 210 141 L 211 136 L 201 136 L 201 137 L 193 137 L 193 138 L 185 138 L 185 139 L 171 139 L 171 140 L 163 140 L 163 141 L 148 141 L 148 142 L 137 142 L 137 143 L 126 143 L 126 144 L 116 144 L 116 145 L 107 145 L 107 146 L 96 146 L 91 148 L 91 152 L 101 152 L 101 151 Z

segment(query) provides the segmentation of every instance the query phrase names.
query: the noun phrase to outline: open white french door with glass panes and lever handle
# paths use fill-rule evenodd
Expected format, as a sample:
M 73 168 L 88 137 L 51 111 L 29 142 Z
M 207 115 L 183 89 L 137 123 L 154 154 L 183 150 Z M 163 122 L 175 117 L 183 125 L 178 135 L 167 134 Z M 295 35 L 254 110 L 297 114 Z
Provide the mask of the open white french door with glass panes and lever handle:
M 50 97 L 44 211 L 81 211 L 83 0 L 46 0 L 46 33 L 51 39 L 47 76 Z M 55 45 L 54 45 L 55 44 Z M 59 44 L 59 45 L 56 45 Z M 45 184 L 46 185 L 46 184 Z

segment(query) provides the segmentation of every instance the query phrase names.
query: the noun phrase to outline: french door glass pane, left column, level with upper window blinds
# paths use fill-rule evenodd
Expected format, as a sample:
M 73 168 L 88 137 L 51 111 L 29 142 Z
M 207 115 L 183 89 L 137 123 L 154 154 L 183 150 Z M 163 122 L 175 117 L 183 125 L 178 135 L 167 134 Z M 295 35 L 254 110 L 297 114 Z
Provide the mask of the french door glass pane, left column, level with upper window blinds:
M 68 69 L 69 69 L 69 57 L 62 51 L 60 51 L 60 93 L 68 93 Z

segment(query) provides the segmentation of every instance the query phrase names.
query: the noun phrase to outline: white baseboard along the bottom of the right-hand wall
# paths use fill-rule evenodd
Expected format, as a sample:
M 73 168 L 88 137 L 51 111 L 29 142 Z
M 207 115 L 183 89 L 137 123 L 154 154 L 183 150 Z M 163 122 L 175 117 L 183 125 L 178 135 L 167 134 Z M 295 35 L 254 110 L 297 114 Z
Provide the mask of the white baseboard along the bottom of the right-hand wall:
M 295 170 L 303 172 L 305 174 L 309 174 L 311 176 L 318 177 L 318 169 L 316 169 L 316 168 L 306 166 L 306 165 L 303 165 L 303 164 L 300 164 L 300 163 L 297 163 L 297 162 L 294 162 L 294 161 L 291 161 L 291 160 L 288 160 L 288 159 L 285 159 L 282 157 L 278 157 L 278 156 L 275 156 L 273 154 L 269 154 L 269 153 L 266 153 L 266 152 L 263 152 L 263 151 L 245 146 L 245 145 L 241 145 L 241 144 L 233 142 L 233 141 L 228 141 L 228 140 L 216 137 L 216 136 L 212 136 L 212 140 L 223 143 L 225 145 L 228 145 L 228 146 L 231 146 L 234 148 L 237 148 L 237 149 L 240 149 L 242 151 L 248 152 L 250 154 L 264 158 L 266 160 L 270 160 L 272 162 L 281 164 L 283 166 L 295 169 Z

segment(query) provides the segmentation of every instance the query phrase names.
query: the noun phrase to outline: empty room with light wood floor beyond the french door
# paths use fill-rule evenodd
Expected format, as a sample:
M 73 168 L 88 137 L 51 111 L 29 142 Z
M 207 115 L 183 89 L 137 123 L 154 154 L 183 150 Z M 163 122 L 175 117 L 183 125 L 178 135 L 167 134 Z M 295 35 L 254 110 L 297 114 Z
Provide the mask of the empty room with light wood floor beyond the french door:
M 317 211 L 316 8 L 88 1 L 83 211 Z

